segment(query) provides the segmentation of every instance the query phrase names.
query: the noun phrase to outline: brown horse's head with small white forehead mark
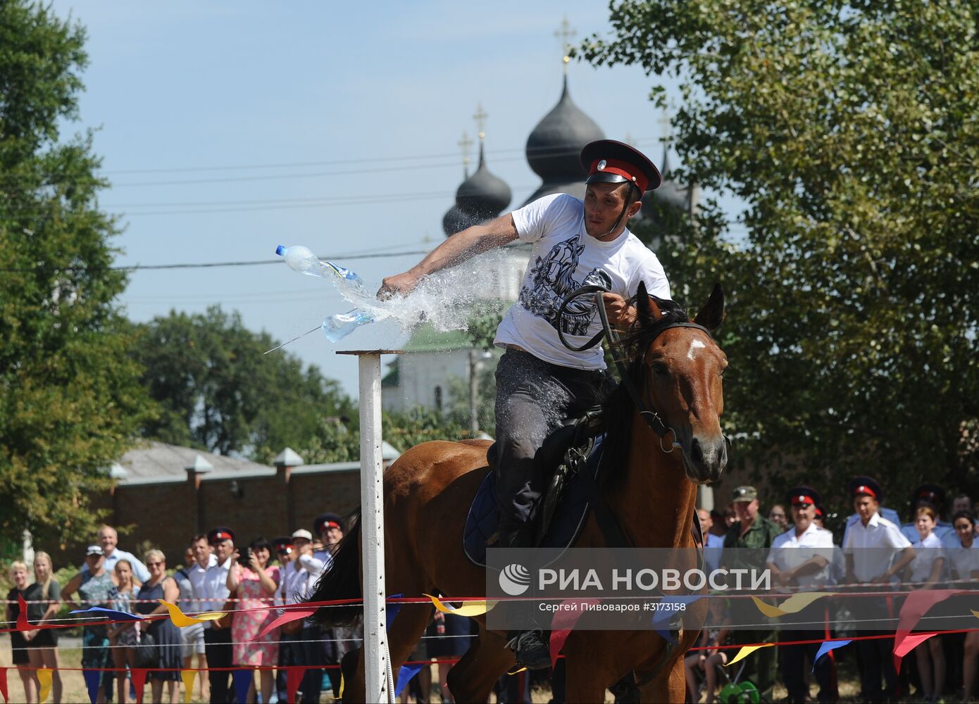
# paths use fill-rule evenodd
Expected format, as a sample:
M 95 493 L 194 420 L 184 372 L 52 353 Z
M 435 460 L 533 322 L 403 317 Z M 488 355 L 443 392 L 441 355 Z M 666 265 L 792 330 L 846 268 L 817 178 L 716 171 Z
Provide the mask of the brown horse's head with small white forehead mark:
M 629 337 L 636 346 L 644 395 L 676 434 L 690 481 L 717 481 L 727 464 L 721 432 L 722 376 L 727 357 L 704 330 L 682 325 L 690 321 L 679 306 L 650 298 L 641 283 L 635 302 L 639 329 Z M 692 322 L 714 330 L 721 325 L 723 315 L 724 296 L 719 284 Z M 664 439 L 665 444 L 673 441 L 669 436 Z

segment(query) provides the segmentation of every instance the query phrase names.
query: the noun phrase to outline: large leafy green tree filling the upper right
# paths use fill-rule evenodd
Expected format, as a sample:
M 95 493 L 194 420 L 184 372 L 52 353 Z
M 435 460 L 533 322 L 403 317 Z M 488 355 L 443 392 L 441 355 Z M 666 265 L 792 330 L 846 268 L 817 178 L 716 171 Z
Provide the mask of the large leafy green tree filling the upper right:
M 627 0 L 579 52 L 676 76 L 683 175 L 746 204 L 738 252 L 707 265 L 733 294 L 738 454 L 776 462 L 775 484 L 979 489 L 977 18 L 962 0 Z

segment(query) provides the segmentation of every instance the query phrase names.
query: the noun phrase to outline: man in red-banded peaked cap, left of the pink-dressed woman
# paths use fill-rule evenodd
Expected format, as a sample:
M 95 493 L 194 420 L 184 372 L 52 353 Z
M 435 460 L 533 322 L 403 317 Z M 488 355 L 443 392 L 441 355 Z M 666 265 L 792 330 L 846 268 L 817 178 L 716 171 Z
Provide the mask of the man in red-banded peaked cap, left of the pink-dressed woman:
M 208 533 L 208 542 L 214 551 L 215 562 L 205 570 L 200 584 L 201 606 L 206 611 L 222 611 L 227 601 L 228 571 L 231 569 L 235 554 L 235 534 L 230 528 L 220 526 Z M 208 622 L 204 632 L 205 650 L 211 668 L 210 680 L 211 704 L 226 704 L 231 690 L 228 680 L 231 677 L 230 668 L 233 663 L 234 650 L 231 646 L 230 615 L 220 621 Z

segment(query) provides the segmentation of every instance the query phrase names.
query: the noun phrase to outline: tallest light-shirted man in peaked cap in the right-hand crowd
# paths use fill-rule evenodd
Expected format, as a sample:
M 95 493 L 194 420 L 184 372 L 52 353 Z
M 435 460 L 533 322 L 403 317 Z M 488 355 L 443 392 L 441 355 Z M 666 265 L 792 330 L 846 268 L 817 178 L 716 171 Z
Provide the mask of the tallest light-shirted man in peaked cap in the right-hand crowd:
M 901 534 L 897 525 L 877 513 L 880 485 L 870 477 L 857 477 L 850 482 L 850 495 L 860 520 L 847 531 L 843 542 L 846 556 L 844 582 L 849 585 L 887 585 L 914 559 L 914 548 Z M 897 559 L 895 557 L 900 555 Z M 862 587 L 867 590 L 867 587 Z M 853 612 L 869 625 L 875 619 L 888 618 L 888 600 L 878 597 L 856 597 Z M 882 624 L 883 626 L 883 624 Z M 893 633 L 885 630 L 862 629 L 862 635 Z M 894 671 L 893 638 L 858 640 L 861 654 L 861 696 L 863 701 L 886 701 L 894 697 L 897 674 Z M 885 688 L 880 689 L 884 676 Z

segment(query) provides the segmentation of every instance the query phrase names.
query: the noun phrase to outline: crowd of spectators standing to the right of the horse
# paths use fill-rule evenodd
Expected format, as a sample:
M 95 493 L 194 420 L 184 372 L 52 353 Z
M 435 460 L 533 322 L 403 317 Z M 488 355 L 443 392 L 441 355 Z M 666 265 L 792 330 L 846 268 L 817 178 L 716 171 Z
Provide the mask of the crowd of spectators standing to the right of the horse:
M 732 622 L 757 622 L 758 611 L 747 600 L 727 603 L 723 595 L 716 595 L 710 606 L 712 628 L 701 636 L 700 644 L 707 649 L 686 658 L 692 701 L 699 701 L 701 685 L 706 686 L 707 701 L 713 700 L 718 686 L 716 674 L 723 672 L 716 667 L 729 654 L 719 646 L 804 640 L 812 642 L 755 651 L 745 661 L 742 677 L 757 686 L 763 701 L 771 701 L 778 673 L 788 692 L 787 701 L 805 702 L 810 697 L 808 680 L 812 673 L 818 685 L 818 701 L 835 701 L 839 695 L 830 672 L 832 658 L 816 659 L 816 652 L 819 640 L 833 634 L 841 616 L 862 624 L 856 634 L 894 634 L 895 617 L 903 603 L 895 591 L 899 584 L 900 593 L 908 593 L 921 588 L 962 587 L 962 583 L 979 580 L 979 524 L 967 495 L 947 502 L 941 487 L 924 484 L 911 494 L 909 521 L 902 524 L 897 511 L 883 505 L 884 493 L 873 478 L 855 477 L 848 490 L 854 513 L 838 522 L 837 535 L 824 527 L 826 512 L 820 494 L 808 486 L 789 490 L 784 503 L 769 508 L 768 517 L 760 511 L 755 488 L 747 486 L 734 490 L 724 511 L 698 510 L 708 570 L 764 564 L 772 586 L 786 594 L 834 587 L 834 591 L 842 592 L 856 589 L 862 598 L 857 600 L 855 595 L 849 600 L 814 602 L 793 617 L 799 627 L 776 631 L 729 628 Z M 946 509 L 951 514 L 948 522 L 943 520 Z M 958 598 L 950 613 L 968 614 L 970 602 L 962 599 L 972 596 Z M 721 608 L 718 604 L 728 610 L 713 613 Z M 942 625 L 935 629 L 942 629 Z M 888 637 L 856 640 L 862 701 L 892 701 L 902 688 L 894 667 L 893 645 L 893 638 Z M 931 637 L 914 649 L 909 660 L 909 668 L 903 672 L 909 671 L 905 677 L 910 682 L 904 682 L 903 690 L 907 692 L 910 683 L 922 701 L 942 699 L 950 686 L 963 701 L 979 693 L 975 689 L 979 632 Z

